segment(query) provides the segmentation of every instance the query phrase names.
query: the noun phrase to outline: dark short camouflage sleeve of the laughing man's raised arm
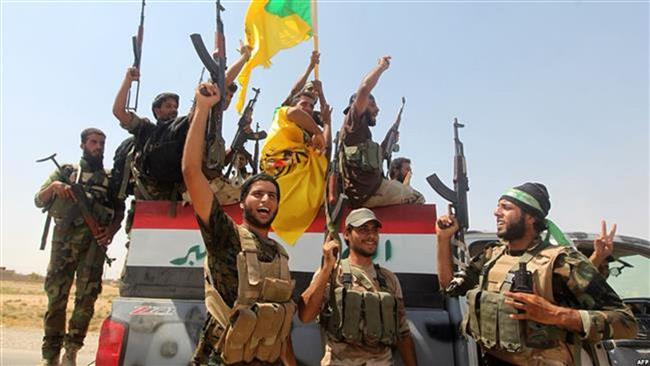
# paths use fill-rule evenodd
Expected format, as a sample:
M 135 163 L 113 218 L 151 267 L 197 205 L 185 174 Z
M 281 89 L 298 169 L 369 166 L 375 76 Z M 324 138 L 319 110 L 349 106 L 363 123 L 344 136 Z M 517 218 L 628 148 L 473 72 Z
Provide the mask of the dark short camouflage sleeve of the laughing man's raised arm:
M 223 210 L 216 195 L 212 200 L 209 222 L 204 223 L 198 216 L 196 221 L 201 229 L 205 249 L 211 255 L 218 255 L 223 250 L 239 245 L 237 226 Z

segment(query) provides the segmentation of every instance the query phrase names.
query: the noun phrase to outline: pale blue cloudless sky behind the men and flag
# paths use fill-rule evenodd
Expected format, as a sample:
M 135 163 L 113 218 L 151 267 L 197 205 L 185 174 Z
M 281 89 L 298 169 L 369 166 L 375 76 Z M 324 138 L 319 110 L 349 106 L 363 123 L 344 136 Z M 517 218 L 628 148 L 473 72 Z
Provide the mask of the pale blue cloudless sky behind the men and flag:
M 247 2 L 224 1 L 229 62 L 243 38 Z M 470 180 L 472 229 L 494 230 L 493 208 L 507 188 L 546 184 L 549 217 L 565 231 L 596 232 L 599 220 L 619 233 L 649 236 L 648 2 L 590 1 L 322 1 L 321 79 L 334 127 L 349 95 L 377 58 L 393 61 L 373 91 L 381 108 L 380 141 L 401 96 L 407 98 L 396 156 L 413 160 L 413 185 L 439 212 L 446 204 L 425 182 L 437 172 L 451 184 L 454 117 Z M 79 132 L 107 136 L 105 165 L 128 136 L 111 113 L 132 63 L 139 1 L 2 1 L 2 200 L 0 265 L 44 274 L 38 250 L 45 216 L 33 196 L 53 170 L 36 164 L 58 153 L 80 156 Z M 201 63 L 190 33 L 211 44 L 211 1 L 147 2 L 139 114 L 161 91 L 190 106 Z M 273 109 L 305 69 L 307 42 L 256 69 L 262 89 L 254 119 L 270 126 Z M 237 117 L 225 114 L 229 140 Z M 123 231 L 108 270 L 117 277 Z

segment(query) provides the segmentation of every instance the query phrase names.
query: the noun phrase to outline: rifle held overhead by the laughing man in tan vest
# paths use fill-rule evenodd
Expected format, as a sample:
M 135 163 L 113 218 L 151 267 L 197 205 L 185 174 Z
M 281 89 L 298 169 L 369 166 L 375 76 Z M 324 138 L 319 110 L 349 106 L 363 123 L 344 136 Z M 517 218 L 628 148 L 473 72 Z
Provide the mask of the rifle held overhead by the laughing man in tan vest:
M 210 119 L 206 132 L 206 167 L 209 171 L 221 172 L 225 160 L 225 141 L 221 132 L 223 125 L 223 105 L 226 90 L 226 40 L 223 34 L 223 22 L 221 21 L 221 0 L 216 1 L 217 30 L 215 32 L 215 51 L 210 53 L 205 48 L 203 39 L 198 33 L 190 35 L 194 50 L 199 55 L 203 66 L 210 73 L 213 84 L 219 88 L 221 100 L 210 110 Z M 202 93 L 204 93 L 202 91 Z

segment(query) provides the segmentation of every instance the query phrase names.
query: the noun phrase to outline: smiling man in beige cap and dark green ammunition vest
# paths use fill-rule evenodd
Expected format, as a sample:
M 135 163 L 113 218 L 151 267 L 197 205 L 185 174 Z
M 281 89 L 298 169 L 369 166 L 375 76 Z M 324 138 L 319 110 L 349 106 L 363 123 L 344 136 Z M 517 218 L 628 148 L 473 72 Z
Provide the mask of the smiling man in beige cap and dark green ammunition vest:
M 392 346 L 407 366 L 416 365 L 402 289 L 397 276 L 372 262 L 381 222 L 367 208 L 351 211 L 344 238 L 350 256 L 337 264 L 338 243 L 323 245 L 323 264 L 300 296 L 303 323 L 320 314 L 327 336 L 321 365 L 392 365 Z

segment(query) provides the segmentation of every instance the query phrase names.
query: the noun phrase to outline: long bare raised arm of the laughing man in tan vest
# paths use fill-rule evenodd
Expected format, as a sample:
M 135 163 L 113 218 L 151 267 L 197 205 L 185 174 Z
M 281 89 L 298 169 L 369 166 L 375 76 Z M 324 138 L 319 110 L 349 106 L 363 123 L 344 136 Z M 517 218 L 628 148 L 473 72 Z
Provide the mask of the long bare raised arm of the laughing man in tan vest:
M 201 94 L 205 90 L 208 96 Z M 194 211 L 203 221 L 208 223 L 214 195 L 210 189 L 208 179 L 203 174 L 203 151 L 205 145 L 205 128 L 210 108 L 215 105 L 221 96 L 219 89 L 211 83 L 202 83 L 195 93 L 196 109 L 192 116 L 183 149 L 183 179 L 187 192 L 192 199 Z

